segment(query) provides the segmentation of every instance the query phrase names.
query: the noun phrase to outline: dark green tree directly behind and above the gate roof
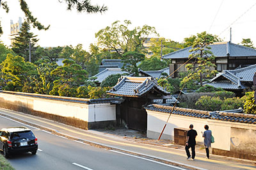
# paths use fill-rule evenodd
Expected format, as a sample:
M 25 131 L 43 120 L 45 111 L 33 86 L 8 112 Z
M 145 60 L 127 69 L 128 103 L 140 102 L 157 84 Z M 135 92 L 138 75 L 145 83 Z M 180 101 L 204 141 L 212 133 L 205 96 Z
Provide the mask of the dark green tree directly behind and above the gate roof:
M 122 70 L 138 76 L 139 72 L 137 63 L 143 61 L 143 59 L 145 59 L 145 55 L 139 52 L 125 52 L 125 54 L 122 56 L 122 63 L 124 63 Z

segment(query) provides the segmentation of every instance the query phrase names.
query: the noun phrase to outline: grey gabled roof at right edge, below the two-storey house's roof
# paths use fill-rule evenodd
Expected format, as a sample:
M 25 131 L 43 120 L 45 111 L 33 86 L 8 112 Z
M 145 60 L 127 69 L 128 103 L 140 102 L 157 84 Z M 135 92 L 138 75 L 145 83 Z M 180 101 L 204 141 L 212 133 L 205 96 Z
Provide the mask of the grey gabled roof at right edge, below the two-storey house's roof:
M 252 82 L 256 72 L 256 65 L 238 68 L 236 70 L 223 70 L 209 81 L 208 85 L 223 89 L 244 89 L 244 82 Z

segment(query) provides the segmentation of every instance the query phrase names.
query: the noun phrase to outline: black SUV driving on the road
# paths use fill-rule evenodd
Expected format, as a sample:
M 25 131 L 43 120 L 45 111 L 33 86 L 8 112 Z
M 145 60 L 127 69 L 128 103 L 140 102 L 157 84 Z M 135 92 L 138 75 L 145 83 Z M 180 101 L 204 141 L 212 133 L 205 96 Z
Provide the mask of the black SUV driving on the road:
M 37 138 L 33 132 L 26 127 L 10 127 L 0 130 L 0 150 L 3 151 L 4 157 L 12 153 L 22 153 L 31 151 L 36 154 L 38 144 Z

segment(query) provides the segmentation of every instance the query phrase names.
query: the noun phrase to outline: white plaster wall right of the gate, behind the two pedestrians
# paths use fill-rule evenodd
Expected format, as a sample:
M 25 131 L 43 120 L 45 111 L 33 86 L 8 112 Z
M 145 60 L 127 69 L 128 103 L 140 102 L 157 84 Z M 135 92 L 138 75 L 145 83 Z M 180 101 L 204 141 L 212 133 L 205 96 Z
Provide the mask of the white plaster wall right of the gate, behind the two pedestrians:
M 147 137 L 157 139 L 161 134 L 161 131 L 168 119 L 169 114 L 165 112 L 155 112 L 148 110 L 147 114 Z M 202 137 L 201 131 L 204 132 L 204 125 L 209 125 L 209 129 L 212 130 L 212 135 L 215 138 L 215 143 L 212 143 L 212 148 L 220 150 L 230 151 L 230 139 L 232 138 L 236 138 L 237 141 L 241 141 L 239 143 L 243 143 L 242 141 L 245 139 L 246 141 L 252 141 L 252 137 L 254 140 L 256 139 L 254 135 L 243 135 L 243 137 L 237 137 L 236 134 L 231 134 L 231 128 L 239 128 L 244 130 L 244 132 L 247 132 L 248 130 L 248 132 L 250 132 L 250 130 L 256 130 L 255 124 L 193 118 L 189 116 L 180 116 L 177 114 L 172 114 L 170 116 L 170 120 L 168 121 L 166 128 L 164 129 L 161 139 L 174 139 L 173 128 L 189 129 L 190 124 L 194 125 L 194 129 L 198 134 L 198 136 L 196 137 L 197 143 L 204 143 L 204 138 Z

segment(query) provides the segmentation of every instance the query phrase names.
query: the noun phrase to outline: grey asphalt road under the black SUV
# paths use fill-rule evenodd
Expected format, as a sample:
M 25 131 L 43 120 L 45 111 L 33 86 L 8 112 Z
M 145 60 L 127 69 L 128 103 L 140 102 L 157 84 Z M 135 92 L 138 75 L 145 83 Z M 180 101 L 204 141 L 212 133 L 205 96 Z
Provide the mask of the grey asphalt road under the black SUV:
M 0 128 L 26 126 L 17 121 L 0 117 Z M 28 127 L 38 138 L 36 155 L 22 153 L 13 155 L 8 160 L 17 170 L 35 169 L 87 169 L 87 170 L 122 170 L 122 169 L 182 169 L 147 158 L 119 153 L 113 150 L 96 148 L 84 143 L 49 134 L 44 130 Z

